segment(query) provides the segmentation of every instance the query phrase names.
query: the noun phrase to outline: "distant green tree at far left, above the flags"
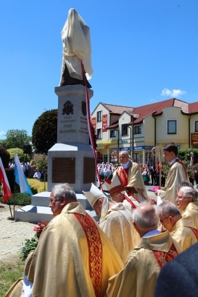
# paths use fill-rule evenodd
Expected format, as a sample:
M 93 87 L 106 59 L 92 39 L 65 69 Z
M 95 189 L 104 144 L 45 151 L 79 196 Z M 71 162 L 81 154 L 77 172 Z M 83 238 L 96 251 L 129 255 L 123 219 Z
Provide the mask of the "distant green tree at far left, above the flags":
M 30 144 L 31 137 L 26 130 L 8 130 L 6 140 L 1 140 L 0 145 L 4 148 L 21 148 L 23 145 Z

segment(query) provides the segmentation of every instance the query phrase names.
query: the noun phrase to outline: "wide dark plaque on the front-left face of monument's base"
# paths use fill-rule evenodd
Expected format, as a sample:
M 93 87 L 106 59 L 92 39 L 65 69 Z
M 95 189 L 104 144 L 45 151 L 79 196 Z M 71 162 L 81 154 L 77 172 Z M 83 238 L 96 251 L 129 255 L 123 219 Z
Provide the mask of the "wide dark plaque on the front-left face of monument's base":
M 75 184 L 75 157 L 52 158 L 52 182 Z

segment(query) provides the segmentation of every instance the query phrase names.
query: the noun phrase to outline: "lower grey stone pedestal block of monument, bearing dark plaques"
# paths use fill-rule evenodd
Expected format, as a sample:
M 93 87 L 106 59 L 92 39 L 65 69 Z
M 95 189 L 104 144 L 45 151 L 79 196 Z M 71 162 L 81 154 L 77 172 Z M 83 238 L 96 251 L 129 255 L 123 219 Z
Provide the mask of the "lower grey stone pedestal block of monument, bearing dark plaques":
M 55 144 L 48 151 L 48 191 L 68 183 L 75 193 L 90 191 L 96 182 L 95 159 L 89 144 Z

